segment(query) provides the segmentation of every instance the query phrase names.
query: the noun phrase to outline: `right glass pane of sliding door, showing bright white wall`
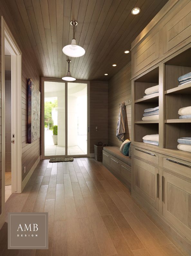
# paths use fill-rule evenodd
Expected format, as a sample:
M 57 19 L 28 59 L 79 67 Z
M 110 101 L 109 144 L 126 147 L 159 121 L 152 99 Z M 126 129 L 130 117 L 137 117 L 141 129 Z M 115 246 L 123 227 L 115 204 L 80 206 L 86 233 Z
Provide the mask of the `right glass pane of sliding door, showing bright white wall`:
M 87 155 L 87 83 L 68 83 L 68 155 Z

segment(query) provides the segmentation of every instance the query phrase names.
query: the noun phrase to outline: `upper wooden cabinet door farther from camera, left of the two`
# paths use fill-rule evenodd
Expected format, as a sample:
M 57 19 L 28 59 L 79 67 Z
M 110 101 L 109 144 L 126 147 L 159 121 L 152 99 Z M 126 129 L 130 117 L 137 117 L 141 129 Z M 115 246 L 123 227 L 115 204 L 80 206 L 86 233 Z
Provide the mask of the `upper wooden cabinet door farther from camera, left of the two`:
M 148 66 L 151 62 L 157 60 L 159 57 L 159 31 L 147 37 L 141 44 L 132 50 L 132 68 L 133 73 Z

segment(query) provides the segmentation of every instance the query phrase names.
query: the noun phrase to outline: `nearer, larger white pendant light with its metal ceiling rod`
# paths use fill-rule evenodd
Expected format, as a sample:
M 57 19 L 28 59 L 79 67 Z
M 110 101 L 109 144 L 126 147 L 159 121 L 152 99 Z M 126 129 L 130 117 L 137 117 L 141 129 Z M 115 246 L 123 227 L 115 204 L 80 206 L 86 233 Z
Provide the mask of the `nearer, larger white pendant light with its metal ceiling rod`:
M 62 49 L 63 53 L 66 54 L 67 56 L 70 57 L 80 57 L 82 55 L 84 55 L 85 50 L 76 44 L 76 39 L 75 39 L 75 27 L 78 25 L 77 21 L 72 20 L 70 22 L 70 24 L 73 27 L 73 39 L 72 39 L 72 43 L 69 45 L 64 46 L 64 48 Z

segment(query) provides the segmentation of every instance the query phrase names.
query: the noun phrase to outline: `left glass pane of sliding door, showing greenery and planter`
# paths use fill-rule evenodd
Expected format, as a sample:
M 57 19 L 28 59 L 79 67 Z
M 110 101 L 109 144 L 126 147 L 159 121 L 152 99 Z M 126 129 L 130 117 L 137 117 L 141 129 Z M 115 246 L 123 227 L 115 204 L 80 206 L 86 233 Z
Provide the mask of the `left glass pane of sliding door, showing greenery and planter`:
M 44 155 L 65 155 L 65 83 L 44 81 Z

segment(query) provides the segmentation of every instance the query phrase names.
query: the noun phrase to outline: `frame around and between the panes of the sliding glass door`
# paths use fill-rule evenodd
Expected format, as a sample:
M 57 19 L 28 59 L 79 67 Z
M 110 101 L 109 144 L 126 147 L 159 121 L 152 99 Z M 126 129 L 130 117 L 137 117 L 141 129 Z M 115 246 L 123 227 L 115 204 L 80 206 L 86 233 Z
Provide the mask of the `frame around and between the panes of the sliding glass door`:
M 87 84 L 87 127 L 90 127 L 90 81 L 75 80 L 67 82 L 61 78 L 41 77 L 41 158 L 50 159 L 55 155 L 44 155 L 44 82 L 60 82 L 65 83 L 65 109 L 68 110 L 68 83 L 86 83 Z M 68 155 L 68 111 L 65 111 L 65 157 L 89 157 L 90 156 L 90 129 L 87 132 L 87 154 L 86 155 Z M 67 152 L 67 154 L 66 154 Z M 56 155 L 63 157 L 63 155 Z

